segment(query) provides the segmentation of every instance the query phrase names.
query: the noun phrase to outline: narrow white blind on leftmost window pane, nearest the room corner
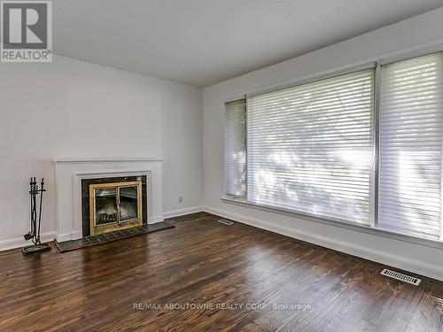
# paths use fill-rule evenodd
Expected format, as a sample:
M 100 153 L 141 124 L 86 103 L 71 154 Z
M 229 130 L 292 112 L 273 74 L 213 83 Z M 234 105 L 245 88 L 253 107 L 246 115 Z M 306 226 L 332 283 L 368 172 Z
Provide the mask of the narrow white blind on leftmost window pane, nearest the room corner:
M 225 189 L 226 194 L 246 195 L 246 103 L 225 104 Z

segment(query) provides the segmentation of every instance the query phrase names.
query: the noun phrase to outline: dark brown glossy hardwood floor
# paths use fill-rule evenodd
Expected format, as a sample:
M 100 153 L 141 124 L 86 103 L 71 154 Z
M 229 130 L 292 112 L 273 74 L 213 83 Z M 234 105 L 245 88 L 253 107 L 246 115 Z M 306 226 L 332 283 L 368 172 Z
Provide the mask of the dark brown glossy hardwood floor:
M 443 282 L 397 282 L 377 263 L 216 220 L 63 254 L 0 252 L 0 330 L 442 330 Z

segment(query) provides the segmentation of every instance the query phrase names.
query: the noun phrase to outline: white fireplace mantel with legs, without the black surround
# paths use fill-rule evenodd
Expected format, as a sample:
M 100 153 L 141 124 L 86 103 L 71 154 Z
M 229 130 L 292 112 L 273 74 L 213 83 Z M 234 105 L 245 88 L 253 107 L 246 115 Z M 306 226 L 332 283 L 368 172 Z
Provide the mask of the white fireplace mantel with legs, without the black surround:
M 57 240 L 82 237 L 82 180 L 146 175 L 148 223 L 163 221 L 161 158 L 57 158 Z

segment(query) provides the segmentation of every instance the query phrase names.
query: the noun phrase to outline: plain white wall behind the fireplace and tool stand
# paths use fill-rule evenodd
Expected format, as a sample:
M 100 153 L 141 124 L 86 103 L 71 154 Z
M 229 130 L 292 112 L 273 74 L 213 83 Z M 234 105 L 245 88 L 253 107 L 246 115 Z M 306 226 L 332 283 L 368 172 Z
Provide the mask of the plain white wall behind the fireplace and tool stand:
M 70 58 L 1 63 L 0 248 L 28 230 L 32 175 L 47 181 L 43 233 L 55 232 L 54 158 L 160 157 L 163 211 L 200 206 L 201 119 L 198 88 Z

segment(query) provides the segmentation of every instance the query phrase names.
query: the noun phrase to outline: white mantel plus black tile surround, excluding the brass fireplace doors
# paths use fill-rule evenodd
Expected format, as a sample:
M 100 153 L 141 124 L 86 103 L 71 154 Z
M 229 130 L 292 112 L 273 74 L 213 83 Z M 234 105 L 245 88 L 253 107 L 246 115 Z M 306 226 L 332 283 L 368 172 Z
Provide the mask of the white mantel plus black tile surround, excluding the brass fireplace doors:
M 58 242 L 90 235 L 89 184 L 142 181 L 142 227 L 163 221 L 160 158 L 58 158 L 54 164 Z

